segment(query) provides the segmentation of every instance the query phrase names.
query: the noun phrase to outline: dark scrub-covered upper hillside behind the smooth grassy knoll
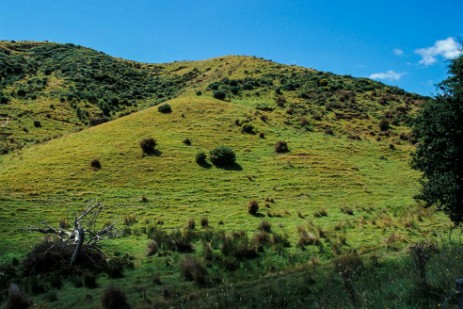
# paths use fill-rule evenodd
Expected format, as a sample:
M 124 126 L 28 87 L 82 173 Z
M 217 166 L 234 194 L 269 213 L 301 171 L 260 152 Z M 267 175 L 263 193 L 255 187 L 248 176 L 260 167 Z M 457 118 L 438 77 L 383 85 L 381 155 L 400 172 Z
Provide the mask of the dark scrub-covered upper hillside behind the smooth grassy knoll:
M 7 153 L 178 96 L 284 109 L 287 125 L 353 139 L 408 139 L 423 99 L 401 89 L 256 57 L 143 64 L 73 44 L 0 42 L 0 152 Z M 397 130 L 379 132 L 380 121 Z

